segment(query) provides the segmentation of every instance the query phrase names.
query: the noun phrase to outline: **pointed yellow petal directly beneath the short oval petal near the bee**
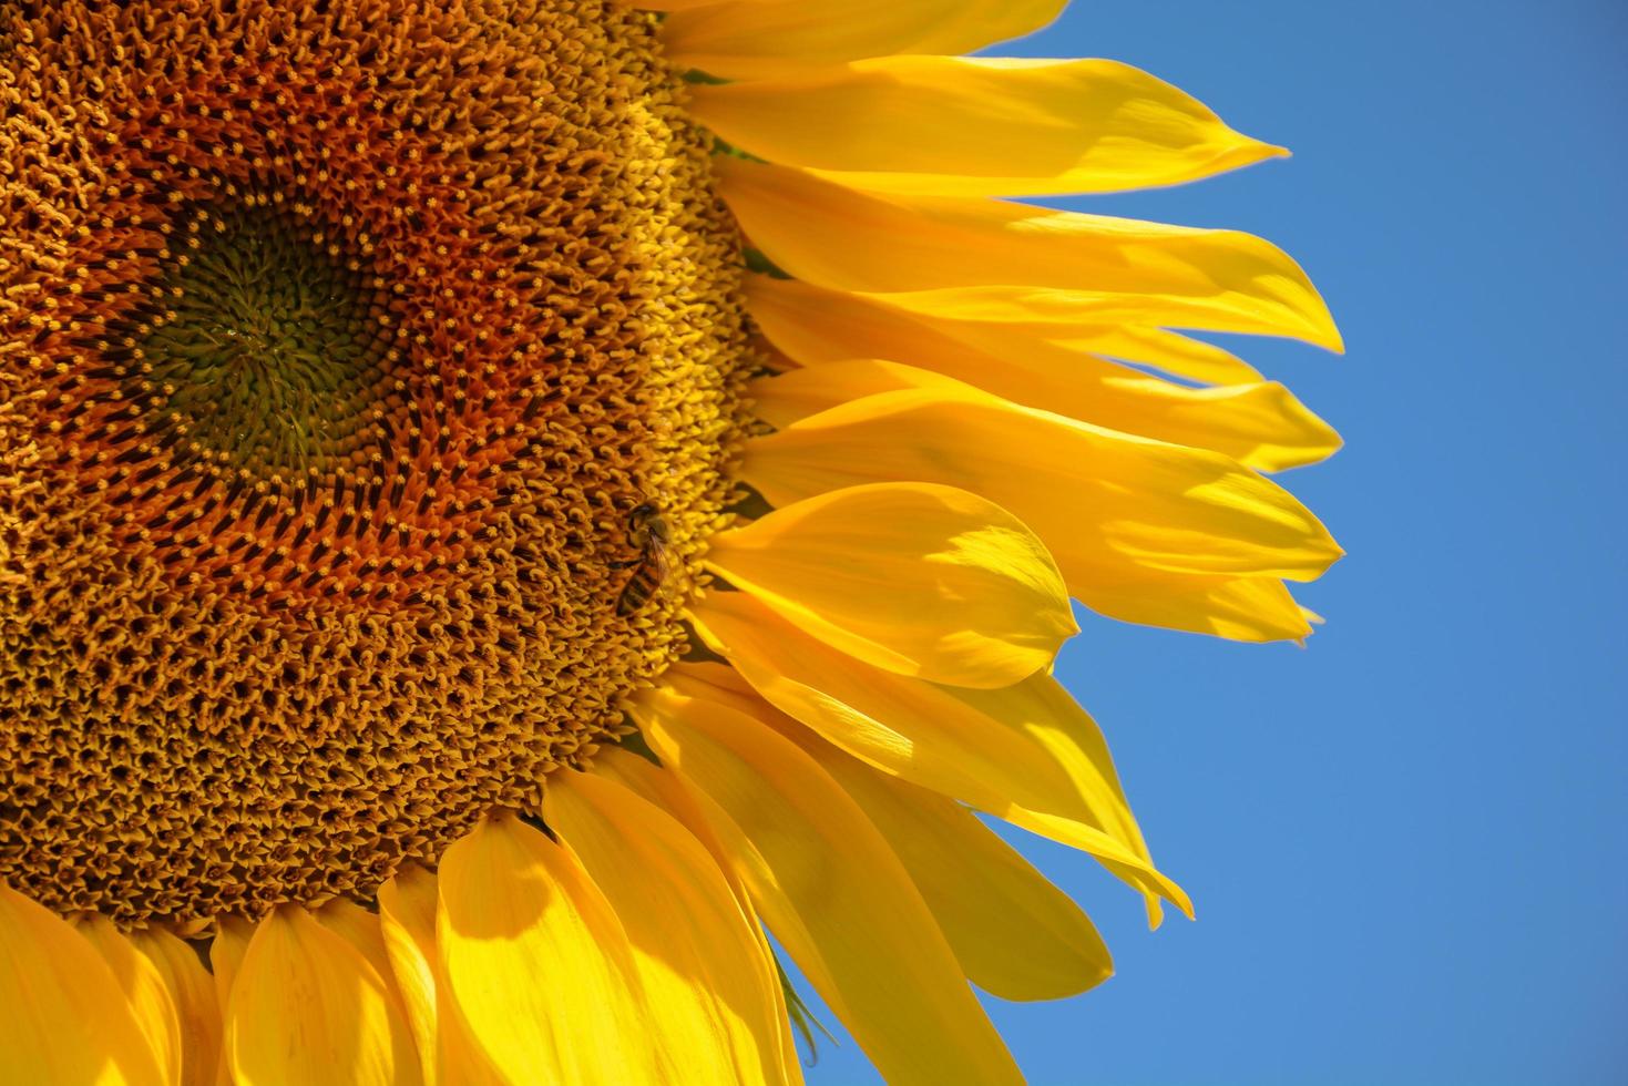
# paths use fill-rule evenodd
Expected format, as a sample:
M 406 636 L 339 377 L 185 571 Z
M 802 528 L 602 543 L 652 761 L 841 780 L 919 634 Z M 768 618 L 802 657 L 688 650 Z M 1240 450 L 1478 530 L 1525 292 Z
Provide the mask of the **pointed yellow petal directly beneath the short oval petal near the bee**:
M 1190 909 L 1153 866 L 1096 723 L 1050 676 L 967 690 L 863 668 L 742 593 L 708 594 L 695 622 L 752 689 L 825 741 L 1089 852 L 1144 896 Z

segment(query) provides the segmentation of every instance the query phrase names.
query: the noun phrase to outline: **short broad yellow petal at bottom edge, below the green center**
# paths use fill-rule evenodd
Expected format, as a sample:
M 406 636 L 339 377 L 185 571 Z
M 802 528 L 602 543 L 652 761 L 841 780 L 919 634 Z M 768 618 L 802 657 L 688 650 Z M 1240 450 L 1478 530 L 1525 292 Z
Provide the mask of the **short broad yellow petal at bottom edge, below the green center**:
M 223 1044 L 241 1086 L 422 1081 L 384 979 L 298 905 L 256 928 L 231 985 Z

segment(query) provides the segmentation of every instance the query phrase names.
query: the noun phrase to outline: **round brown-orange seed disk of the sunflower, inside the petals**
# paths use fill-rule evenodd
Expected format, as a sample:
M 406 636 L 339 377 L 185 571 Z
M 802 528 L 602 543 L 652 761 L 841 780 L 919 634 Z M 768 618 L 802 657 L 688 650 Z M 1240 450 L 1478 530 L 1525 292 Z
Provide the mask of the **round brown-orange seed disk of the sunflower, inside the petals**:
M 651 16 L 441 7 L 0 7 L 0 878 L 59 912 L 366 899 L 682 648 L 707 147 Z

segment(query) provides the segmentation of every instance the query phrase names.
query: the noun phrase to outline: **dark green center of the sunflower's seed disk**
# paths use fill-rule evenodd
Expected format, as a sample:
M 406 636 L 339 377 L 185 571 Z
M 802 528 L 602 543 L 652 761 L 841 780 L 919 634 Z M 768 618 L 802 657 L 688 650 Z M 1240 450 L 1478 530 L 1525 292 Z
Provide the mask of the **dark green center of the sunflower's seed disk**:
M 153 410 L 257 477 L 353 467 L 386 431 L 384 291 L 303 208 L 199 208 L 137 337 Z M 140 331 L 140 329 L 138 329 Z

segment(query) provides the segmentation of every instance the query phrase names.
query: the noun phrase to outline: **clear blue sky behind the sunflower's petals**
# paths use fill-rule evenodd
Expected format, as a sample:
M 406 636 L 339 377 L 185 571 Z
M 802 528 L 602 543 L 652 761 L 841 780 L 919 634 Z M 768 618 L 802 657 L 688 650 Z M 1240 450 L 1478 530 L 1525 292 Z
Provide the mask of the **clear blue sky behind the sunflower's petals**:
M 1628 1081 L 1628 5 L 1076 0 L 1004 52 L 1294 150 L 1066 204 L 1306 265 L 1346 357 L 1229 345 L 1343 431 L 1284 479 L 1350 557 L 1306 651 L 1081 615 L 1060 674 L 1198 922 L 1026 840 L 1120 972 L 996 1024 L 1042 1086 Z

